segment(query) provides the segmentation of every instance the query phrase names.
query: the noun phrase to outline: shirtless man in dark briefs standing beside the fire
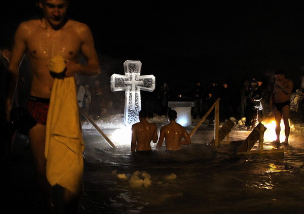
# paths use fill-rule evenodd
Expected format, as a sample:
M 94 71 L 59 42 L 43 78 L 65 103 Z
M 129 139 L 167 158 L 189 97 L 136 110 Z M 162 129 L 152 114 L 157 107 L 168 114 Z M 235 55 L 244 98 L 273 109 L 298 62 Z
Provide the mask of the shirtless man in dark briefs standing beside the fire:
M 289 126 L 289 111 L 290 111 L 290 94 L 293 88 L 293 82 L 290 79 L 285 78 L 283 71 L 277 71 L 275 73 L 275 86 L 274 91 L 271 95 L 269 106 L 274 109 L 274 115 L 276 119 L 276 135 L 277 139 L 274 143 L 280 143 L 280 132 L 281 132 L 281 118 L 285 125 L 285 141 L 283 143 L 288 144 L 288 137 L 290 132 Z

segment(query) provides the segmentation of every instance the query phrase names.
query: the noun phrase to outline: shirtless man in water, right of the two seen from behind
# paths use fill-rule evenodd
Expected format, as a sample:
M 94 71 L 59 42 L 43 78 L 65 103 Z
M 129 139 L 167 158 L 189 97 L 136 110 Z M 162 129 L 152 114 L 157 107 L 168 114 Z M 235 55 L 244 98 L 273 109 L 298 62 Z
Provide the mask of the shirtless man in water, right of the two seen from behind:
M 191 144 L 191 139 L 185 128 L 175 121 L 177 118 L 177 112 L 175 110 L 170 110 L 168 117 L 170 123 L 161 127 L 160 138 L 156 148 L 159 150 L 162 147 L 165 138 L 165 151 L 167 153 L 176 153 L 181 150 L 181 145 Z M 184 138 L 184 140 L 181 140 L 182 138 Z

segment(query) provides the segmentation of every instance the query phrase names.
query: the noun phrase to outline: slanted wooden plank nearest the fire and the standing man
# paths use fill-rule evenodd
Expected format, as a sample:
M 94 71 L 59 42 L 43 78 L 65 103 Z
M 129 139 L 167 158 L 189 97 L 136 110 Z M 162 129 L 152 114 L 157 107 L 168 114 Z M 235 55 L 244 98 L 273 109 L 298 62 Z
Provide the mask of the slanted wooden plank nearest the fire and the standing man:
M 250 133 L 250 135 L 246 138 L 245 141 L 241 144 L 241 146 L 238 148 L 237 153 L 249 153 L 251 148 L 254 146 L 254 144 L 260 140 L 260 135 L 264 134 L 264 132 L 267 130 L 266 127 L 262 123 L 258 123 L 257 126 L 254 127 L 253 131 Z

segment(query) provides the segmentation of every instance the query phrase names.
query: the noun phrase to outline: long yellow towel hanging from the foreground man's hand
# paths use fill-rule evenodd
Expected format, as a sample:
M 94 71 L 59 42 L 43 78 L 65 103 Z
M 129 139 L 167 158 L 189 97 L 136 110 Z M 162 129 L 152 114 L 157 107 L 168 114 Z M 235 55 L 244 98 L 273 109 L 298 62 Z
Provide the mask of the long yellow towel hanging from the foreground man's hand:
M 84 141 L 74 77 L 55 78 L 46 126 L 47 178 L 74 194 L 83 176 Z

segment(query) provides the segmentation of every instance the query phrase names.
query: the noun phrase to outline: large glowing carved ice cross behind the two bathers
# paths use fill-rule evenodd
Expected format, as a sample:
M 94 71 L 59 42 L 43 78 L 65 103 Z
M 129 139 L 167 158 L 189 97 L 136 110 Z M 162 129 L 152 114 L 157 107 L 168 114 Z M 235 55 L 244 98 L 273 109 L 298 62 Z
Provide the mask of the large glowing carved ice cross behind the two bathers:
M 111 76 L 111 90 L 113 92 L 126 91 L 124 123 L 138 122 L 138 113 L 141 109 L 140 90 L 153 92 L 155 76 L 140 76 L 141 62 L 127 60 L 124 63 L 125 75 Z

